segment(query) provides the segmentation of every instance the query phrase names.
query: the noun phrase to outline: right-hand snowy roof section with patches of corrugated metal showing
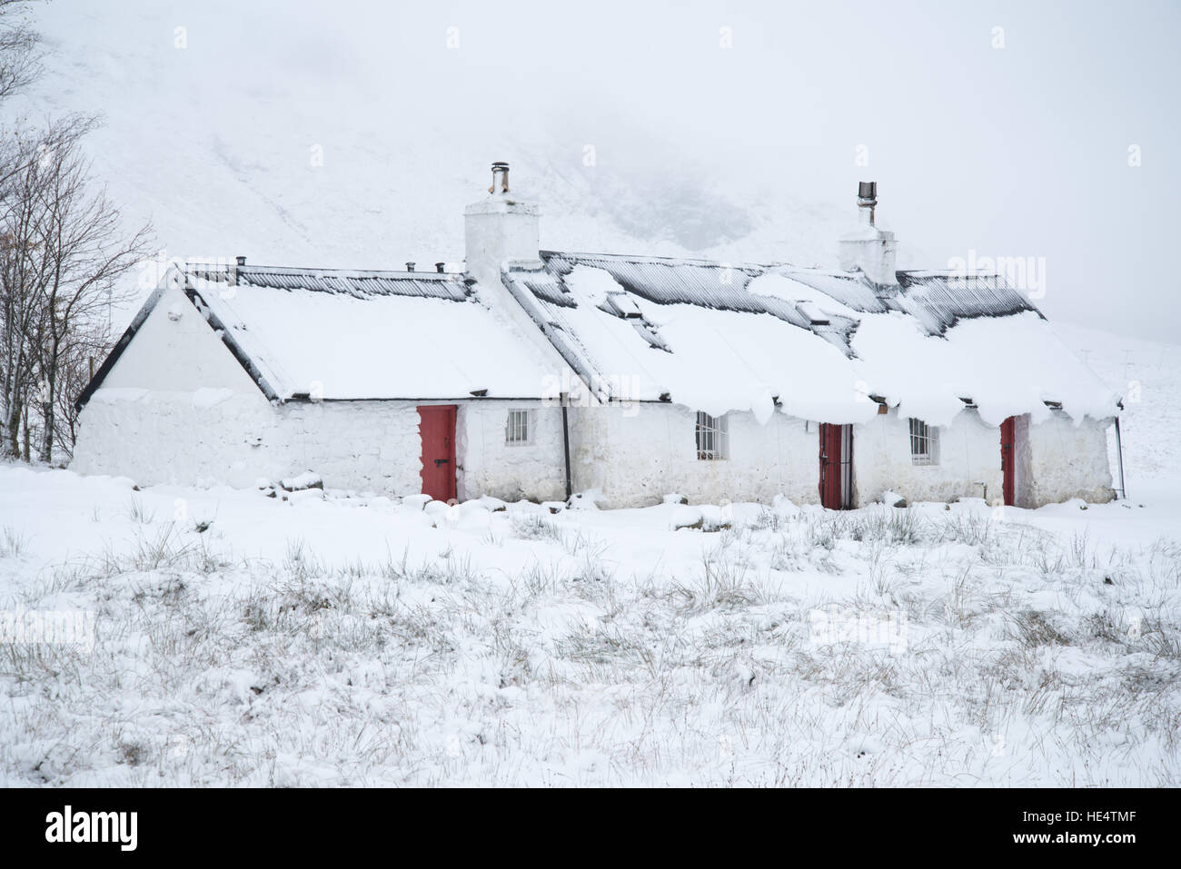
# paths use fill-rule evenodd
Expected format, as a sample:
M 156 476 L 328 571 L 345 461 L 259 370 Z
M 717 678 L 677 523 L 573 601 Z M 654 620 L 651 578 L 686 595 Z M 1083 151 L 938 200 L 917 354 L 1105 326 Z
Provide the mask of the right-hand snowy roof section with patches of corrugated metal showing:
M 788 266 L 542 251 L 504 281 L 570 366 L 620 399 L 830 423 L 868 419 L 879 398 L 933 424 L 967 403 L 990 423 L 1117 409 L 996 275 L 899 273 L 875 289 Z

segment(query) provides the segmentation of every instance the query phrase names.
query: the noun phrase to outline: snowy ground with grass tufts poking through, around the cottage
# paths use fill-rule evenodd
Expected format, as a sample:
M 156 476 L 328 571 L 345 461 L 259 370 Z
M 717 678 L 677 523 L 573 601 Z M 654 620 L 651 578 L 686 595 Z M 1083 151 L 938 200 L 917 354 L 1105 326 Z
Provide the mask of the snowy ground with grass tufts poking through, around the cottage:
M 0 645 L 0 782 L 1176 786 L 1181 348 L 1062 332 L 1141 383 L 1128 502 L 446 511 L 0 466 L 0 610 L 94 630 Z

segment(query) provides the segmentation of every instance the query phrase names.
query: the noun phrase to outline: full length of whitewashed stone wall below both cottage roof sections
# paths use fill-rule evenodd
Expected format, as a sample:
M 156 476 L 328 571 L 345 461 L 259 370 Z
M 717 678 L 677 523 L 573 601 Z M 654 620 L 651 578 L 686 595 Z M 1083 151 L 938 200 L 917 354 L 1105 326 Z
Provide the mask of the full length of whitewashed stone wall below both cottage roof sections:
M 420 491 L 422 444 L 413 403 L 333 401 L 272 407 L 261 393 L 209 390 L 99 390 L 83 411 L 73 468 L 158 483 L 234 486 L 313 470 L 329 488 L 407 495 Z M 214 396 L 218 399 L 218 396 Z M 527 403 L 461 403 L 457 414 L 457 492 L 514 501 L 565 497 L 561 409 L 534 410 L 533 443 L 508 445 L 510 407 Z M 1019 420 L 1020 422 L 1020 420 Z M 574 489 L 601 489 L 603 507 L 659 503 L 680 492 L 693 503 L 770 502 L 787 494 L 818 501 L 815 423 L 776 414 L 764 426 L 730 414 L 729 458 L 697 459 L 694 416 L 653 405 L 634 417 L 618 407 L 570 409 Z M 1066 418 L 1018 425 L 1017 503 L 1020 507 L 1111 498 L 1105 426 Z M 987 490 L 980 483 L 987 485 Z M 1000 434 L 965 412 L 939 432 L 938 460 L 914 465 L 906 417 L 893 411 L 854 430 L 855 503 L 892 489 L 912 501 L 1001 497 Z

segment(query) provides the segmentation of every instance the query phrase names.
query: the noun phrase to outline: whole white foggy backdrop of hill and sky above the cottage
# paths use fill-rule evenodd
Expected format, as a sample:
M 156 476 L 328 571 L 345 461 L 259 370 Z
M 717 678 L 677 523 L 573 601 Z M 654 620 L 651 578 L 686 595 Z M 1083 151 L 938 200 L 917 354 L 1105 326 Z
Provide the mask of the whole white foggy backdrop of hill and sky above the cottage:
M 1181 229 L 1153 195 L 1179 171 L 1154 17 L 657 6 L 56 0 L 19 107 L 102 113 L 97 175 L 171 255 L 458 261 L 507 159 L 547 248 L 831 266 L 872 178 L 901 267 L 1044 257 L 1051 318 L 1156 338 L 1181 318 L 1150 256 Z

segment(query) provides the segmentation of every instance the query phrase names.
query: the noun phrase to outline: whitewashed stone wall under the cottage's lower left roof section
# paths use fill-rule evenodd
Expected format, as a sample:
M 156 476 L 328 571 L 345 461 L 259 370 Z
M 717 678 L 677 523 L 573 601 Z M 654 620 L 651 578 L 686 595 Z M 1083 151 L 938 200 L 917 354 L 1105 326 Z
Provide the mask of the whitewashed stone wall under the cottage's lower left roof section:
M 83 410 L 73 468 L 142 485 L 253 485 L 304 470 L 333 489 L 422 491 L 417 403 L 324 401 L 272 407 L 231 396 L 204 407 L 201 392 L 103 388 Z M 438 401 L 432 404 L 449 404 Z M 459 403 L 457 494 L 504 499 L 566 497 L 561 410 L 535 404 L 530 444 L 507 445 L 508 409 L 524 403 Z

